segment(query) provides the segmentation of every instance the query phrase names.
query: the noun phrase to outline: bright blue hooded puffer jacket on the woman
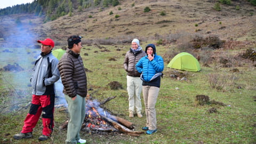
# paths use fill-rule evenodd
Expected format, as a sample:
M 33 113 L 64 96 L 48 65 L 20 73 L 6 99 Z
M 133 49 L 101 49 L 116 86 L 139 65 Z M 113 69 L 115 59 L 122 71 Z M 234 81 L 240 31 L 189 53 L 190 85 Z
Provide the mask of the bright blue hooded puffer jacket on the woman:
M 154 44 L 148 44 L 147 48 L 152 47 L 154 51 L 154 59 L 150 61 L 148 56 L 142 57 L 136 64 L 136 69 L 139 73 L 142 73 L 142 79 L 145 82 L 149 82 L 150 79 L 157 73 L 161 73 L 164 70 L 164 60 L 160 55 L 156 55 L 156 47 Z

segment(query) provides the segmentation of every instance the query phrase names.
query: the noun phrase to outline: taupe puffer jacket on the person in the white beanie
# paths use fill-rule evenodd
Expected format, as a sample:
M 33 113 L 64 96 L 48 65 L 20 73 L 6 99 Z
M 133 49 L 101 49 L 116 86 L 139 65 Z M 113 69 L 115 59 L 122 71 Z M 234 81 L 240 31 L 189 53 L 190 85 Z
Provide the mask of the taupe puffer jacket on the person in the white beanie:
M 124 58 L 124 69 L 127 71 L 127 75 L 140 77 L 140 73 L 135 68 L 135 65 L 142 57 L 145 57 L 145 55 L 146 53 L 142 50 L 135 54 L 132 50 L 126 52 Z

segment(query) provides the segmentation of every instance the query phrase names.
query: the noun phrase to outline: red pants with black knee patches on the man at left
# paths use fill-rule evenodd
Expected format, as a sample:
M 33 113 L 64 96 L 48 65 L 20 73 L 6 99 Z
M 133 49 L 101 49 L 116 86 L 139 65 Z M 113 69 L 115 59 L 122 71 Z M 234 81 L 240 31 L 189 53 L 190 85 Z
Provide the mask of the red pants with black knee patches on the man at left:
M 22 133 L 32 132 L 33 128 L 36 126 L 36 123 L 41 116 L 43 120 L 43 134 L 51 135 L 54 122 L 53 122 L 53 113 L 54 113 L 54 98 L 55 95 L 32 95 L 32 105 L 29 109 L 29 113 L 24 121 L 22 127 Z

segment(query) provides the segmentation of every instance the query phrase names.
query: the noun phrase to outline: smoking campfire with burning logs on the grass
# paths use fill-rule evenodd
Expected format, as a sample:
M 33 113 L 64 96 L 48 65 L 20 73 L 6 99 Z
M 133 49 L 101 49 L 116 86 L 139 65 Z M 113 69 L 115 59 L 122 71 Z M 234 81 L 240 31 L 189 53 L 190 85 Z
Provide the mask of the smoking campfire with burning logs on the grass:
M 105 100 L 105 102 L 99 103 L 97 100 L 86 100 L 86 114 L 84 123 L 82 124 L 81 130 L 89 133 L 99 132 L 121 132 L 133 136 L 138 136 L 144 132 L 134 131 L 133 123 L 111 115 L 107 110 L 101 108 L 103 103 L 113 99 L 115 97 Z M 68 121 L 60 126 L 61 129 L 66 129 Z

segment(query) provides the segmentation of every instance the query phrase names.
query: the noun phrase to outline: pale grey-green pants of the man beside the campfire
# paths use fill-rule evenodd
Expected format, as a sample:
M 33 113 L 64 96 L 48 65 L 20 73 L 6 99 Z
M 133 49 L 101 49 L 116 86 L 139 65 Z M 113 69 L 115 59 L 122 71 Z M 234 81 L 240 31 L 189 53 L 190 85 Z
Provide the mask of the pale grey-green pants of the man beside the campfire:
M 77 141 L 80 139 L 79 132 L 85 118 L 85 98 L 81 97 L 78 94 L 76 95 L 75 100 L 72 100 L 72 98 L 68 97 L 67 94 L 65 94 L 65 98 L 68 102 L 69 112 L 66 144 L 76 144 Z

